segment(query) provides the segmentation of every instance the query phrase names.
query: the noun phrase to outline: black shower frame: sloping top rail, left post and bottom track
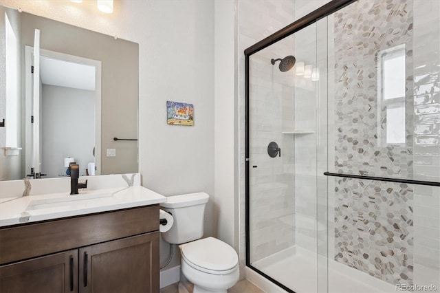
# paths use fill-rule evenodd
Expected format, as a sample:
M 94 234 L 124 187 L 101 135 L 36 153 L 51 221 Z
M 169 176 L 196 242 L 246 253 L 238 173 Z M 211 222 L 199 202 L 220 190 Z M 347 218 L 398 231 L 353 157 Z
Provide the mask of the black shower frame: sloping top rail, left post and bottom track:
M 250 152 L 249 152 L 249 133 L 250 133 L 250 123 L 249 123 L 249 98 L 250 98 L 250 76 L 249 76 L 249 58 L 252 54 L 263 50 L 265 47 L 269 47 L 270 45 L 285 39 L 287 36 L 306 28 L 307 26 L 316 23 L 320 19 L 323 19 L 330 14 L 344 8 L 345 6 L 354 3 L 357 0 L 332 0 L 329 3 L 321 6 L 320 8 L 314 10 L 313 12 L 307 14 L 305 17 L 298 19 L 298 21 L 294 21 L 287 25 L 285 28 L 278 30 L 274 34 L 267 36 L 265 39 L 255 43 L 254 45 L 248 47 L 244 50 L 245 54 L 245 243 L 246 243 L 246 266 L 261 276 L 264 276 L 266 279 L 271 281 L 272 283 L 278 285 L 283 288 L 287 292 L 295 293 L 294 290 L 289 287 L 283 285 L 282 283 L 276 281 L 276 279 L 271 276 L 261 272 L 261 270 L 255 268 L 250 263 L 250 184 L 249 184 L 249 175 L 250 175 Z

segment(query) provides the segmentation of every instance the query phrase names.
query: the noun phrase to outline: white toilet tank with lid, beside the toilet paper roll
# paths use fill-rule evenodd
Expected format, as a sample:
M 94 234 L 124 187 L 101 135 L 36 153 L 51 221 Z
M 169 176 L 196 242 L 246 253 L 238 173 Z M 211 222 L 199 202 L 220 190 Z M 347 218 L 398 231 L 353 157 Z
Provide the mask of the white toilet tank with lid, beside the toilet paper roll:
M 203 215 L 209 195 L 206 193 L 189 193 L 166 197 L 160 204 L 162 210 L 170 213 L 174 224 L 170 230 L 162 233 L 168 243 L 181 244 L 203 236 Z

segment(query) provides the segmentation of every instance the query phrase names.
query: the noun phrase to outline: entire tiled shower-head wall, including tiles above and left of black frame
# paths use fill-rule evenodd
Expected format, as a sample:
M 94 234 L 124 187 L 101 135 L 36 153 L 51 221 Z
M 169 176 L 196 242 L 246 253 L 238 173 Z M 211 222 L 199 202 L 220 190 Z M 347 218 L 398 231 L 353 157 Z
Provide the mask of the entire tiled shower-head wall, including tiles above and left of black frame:
M 294 0 L 239 0 L 239 56 L 240 76 L 244 85 L 243 51 L 266 36 L 294 21 Z M 263 50 L 250 58 L 252 76 L 250 107 L 250 213 L 251 261 L 258 261 L 274 252 L 292 246 L 294 238 L 294 145 L 285 140 L 283 129 L 293 127 L 293 72 L 280 72 L 279 61 L 271 58 L 292 55 L 294 43 L 285 41 L 274 48 Z M 244 141 L 244 87 L 240 90 L 240 125 Z M 267 144 L 277 142 L 281 158 L 267 155 Z M 244 163 L 244 143 L 240 162 Z M 252 166 L 257 166 L 252 168 Z M 245 257 L 245 168 L 241 164 L 241 263 Z

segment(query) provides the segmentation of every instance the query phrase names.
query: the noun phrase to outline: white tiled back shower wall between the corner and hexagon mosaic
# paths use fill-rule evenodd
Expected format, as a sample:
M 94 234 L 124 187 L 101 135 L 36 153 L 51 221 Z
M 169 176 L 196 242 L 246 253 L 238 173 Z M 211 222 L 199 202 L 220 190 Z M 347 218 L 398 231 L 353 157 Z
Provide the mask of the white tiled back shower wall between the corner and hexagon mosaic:
M 296 16 L 297 18 L 303 17 L 327 2 L 326 0 L 297 0 Z M 321 213 L 327 210 L 325 206 L 327 204 L 327 179 L 322 175 L 324 171 L 327 171 L 327 164 L 322 166 L 320 162 L 322 158 L 327 160 L 325 151 L 327 141 L 323 138 L 327 138 L 327 135 L 324 135 L 327 132 L 327 30 L 325 30 L 325 23 L 318 21 L 318 23 L 309 25 L 296 32 L 294 38 L 297 62 L 304 62 L 305 65 L 320 69 L 319 80 L 311 80 L 305 76 L 294 78 L 295 128 L 311 132 L 305 135 L 294 135 L 293 138 L 295 144 L 296 246 L 316 252 L 317 244 L 320 246 L 325 241 L 327 224 L 325 213 Z M 324 179 L 323 182 L 322 179 Z

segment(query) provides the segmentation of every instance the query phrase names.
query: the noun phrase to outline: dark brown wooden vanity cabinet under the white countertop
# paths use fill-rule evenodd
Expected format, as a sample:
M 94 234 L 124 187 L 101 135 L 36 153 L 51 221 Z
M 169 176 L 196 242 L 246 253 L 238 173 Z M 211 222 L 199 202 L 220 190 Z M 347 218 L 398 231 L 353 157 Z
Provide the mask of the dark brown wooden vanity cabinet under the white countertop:
M 159 292 L 159 206 L 0 228 L 0 292 Z

